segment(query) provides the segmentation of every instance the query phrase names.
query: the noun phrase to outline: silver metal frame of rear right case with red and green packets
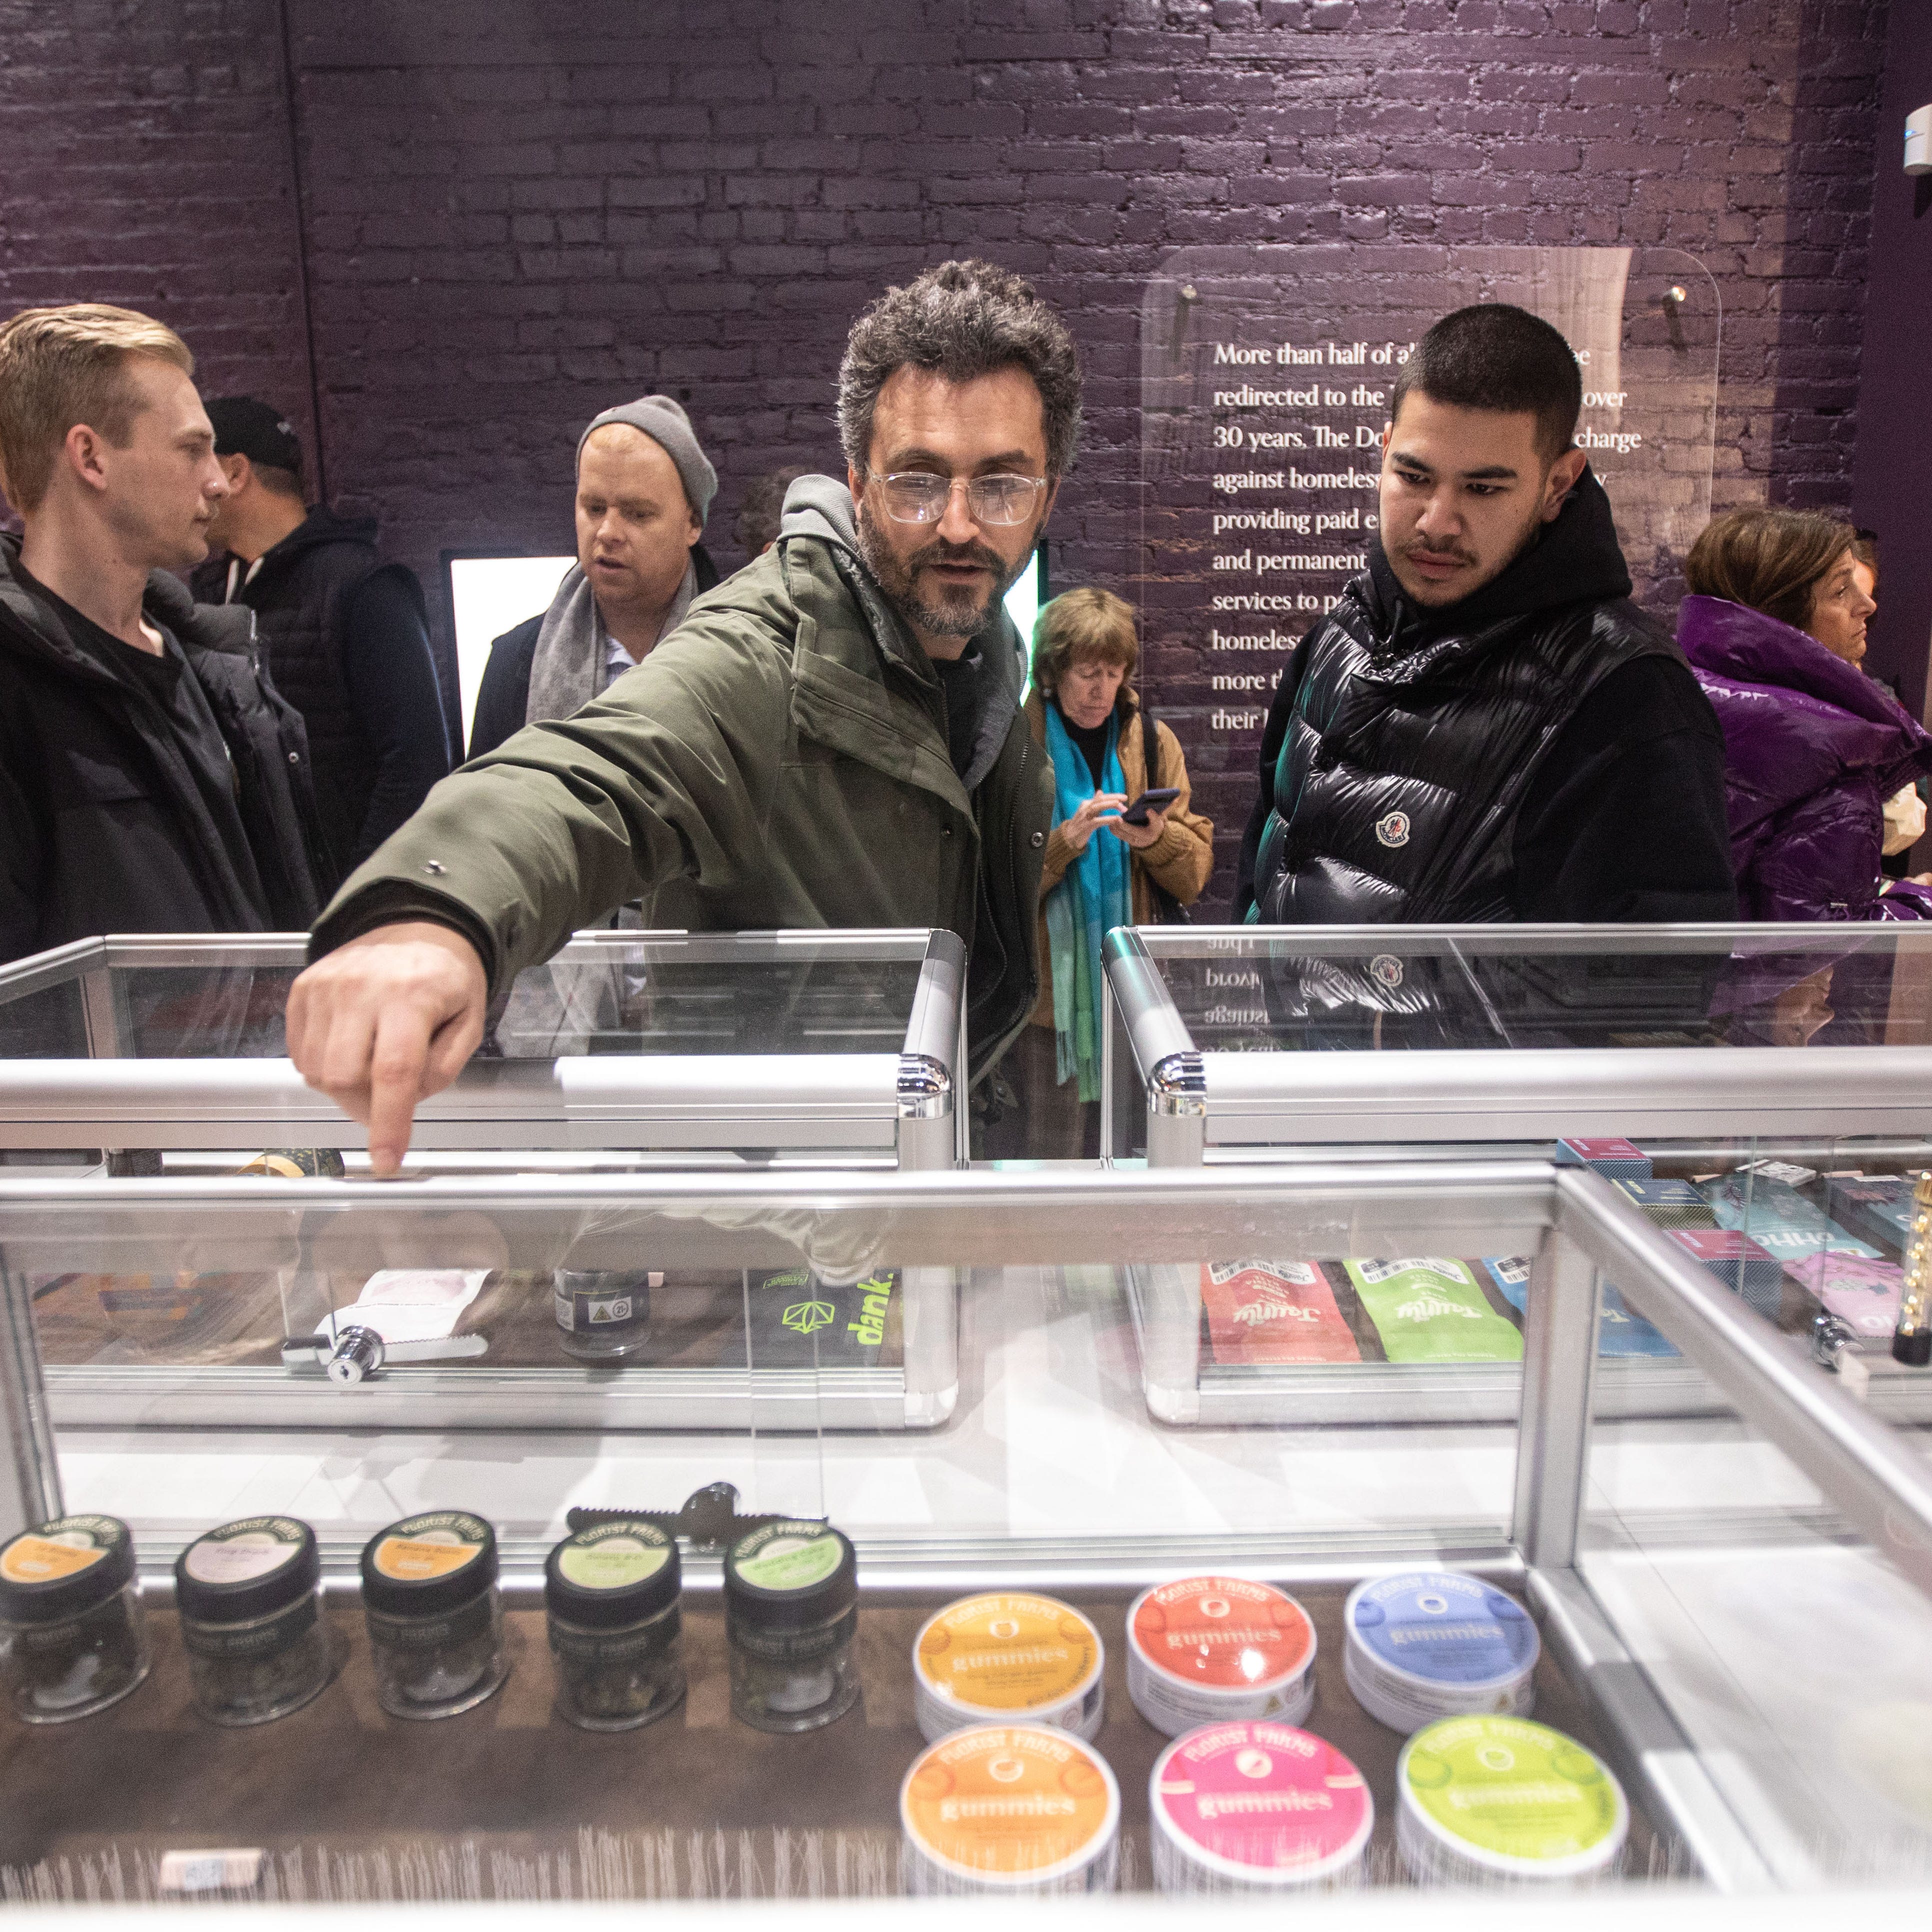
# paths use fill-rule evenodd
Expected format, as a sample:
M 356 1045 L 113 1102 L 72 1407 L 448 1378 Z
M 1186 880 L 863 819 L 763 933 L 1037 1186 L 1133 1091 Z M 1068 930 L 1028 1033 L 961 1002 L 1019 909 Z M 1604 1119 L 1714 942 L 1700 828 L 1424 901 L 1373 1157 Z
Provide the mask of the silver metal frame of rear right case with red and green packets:
M 1563 954 L 1578 945 L 1760 951 L 1779 939 L 1820 945 L 1816 925 L 1410 925 L 1294 929 L 1296 956 Z M 1888 937 L 1895 929 L 1888 929 Z M 1260 937 L 1277 937 L 1262 929 Z M 1401 1155 L 1548 1157 L 1563 1136 L 1675 1142 L 1679 1153 L 1735 1161 L 1737 1142 L 1783 1157 L 1841 1155 L 1859 1138 L 1872 1157 L 1932 1163 L 1932 1045 L 1918 1047 L 1495 1047 L 1233 1053 L 1202 1051 L 1163 978 L 1163 962 L 1217 943 L 1252 949 L 1258 929 L 1115 927 L 1107 933 L 1109 1016 L 1101 1051 L 1101 1159 L 1117 1159 L 1122 1068 L 1117 1034 L 1146 1094 L 1150 1169 L 1271 1159 L 1285 1165 Z M 1119 1024 L 1115 1024 L 1119 1020 Z M 1710 1146 L 1725 1142 L 1729 1146 Z M 1698 1144 L 1704 1144 L 1702 1148 Z M 1432 1254 L 1474 1254 L 1443 1248 Z M 1495 1250 L 1488 1250 L 1495 1252 Z M 1163 1422 L 1474 1420 L 1517 1412 L 1522 1372 L 1509 1362 L 1223 1368 L 1204 1360 L 1192 1281 L 1136 1267 L 1134 1318 L 1148 1406 Z M 1605 1414 L 1706 1414 L 1719 1395 L 1690 1360 L 1607 1358 L 1596 1399 Z M 1872 1360 L 1870 1401 L 1901 1420 L 1932 1418 L 1932 1385 Z

